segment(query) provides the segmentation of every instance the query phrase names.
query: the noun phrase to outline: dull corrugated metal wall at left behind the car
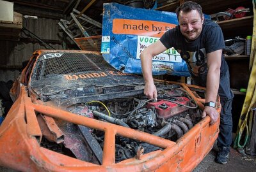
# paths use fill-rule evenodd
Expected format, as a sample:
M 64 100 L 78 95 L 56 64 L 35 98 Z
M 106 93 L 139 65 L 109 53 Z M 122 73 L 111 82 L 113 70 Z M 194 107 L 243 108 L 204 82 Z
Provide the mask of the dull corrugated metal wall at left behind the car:
M 32 10 L 33 11 L 33 10 Z M 49 16 L 52 13 L 48 12 Z M 56 43 L 47 43 L 55 49 L 63 49 L 61 40 L 63 39 L 63 32 L 58 26 L 58 21 L 52 18 L 38 18 L 37 20 L 31 18 L 24 18 L 23 26 L 29 31 L 33 32 L 40 39 L 53 40 Z M 22 39 L 23 38 L 23 39 Z M 25 38 L 25 39 L 24 39 Z M 22 62 L 27 61 L 28 57 L 39 49 L 48 49 L 39 42 L 31 42 L 35 40 L 28 33 L 21 32 L 20 41 L 0 40 L 0 80 L 8 81 L 15 80 L 17 74 L 22 68 Z M 58 42 L 59 41 L 59 42 Z M 12 71 L 8 71 L 12 69 Z

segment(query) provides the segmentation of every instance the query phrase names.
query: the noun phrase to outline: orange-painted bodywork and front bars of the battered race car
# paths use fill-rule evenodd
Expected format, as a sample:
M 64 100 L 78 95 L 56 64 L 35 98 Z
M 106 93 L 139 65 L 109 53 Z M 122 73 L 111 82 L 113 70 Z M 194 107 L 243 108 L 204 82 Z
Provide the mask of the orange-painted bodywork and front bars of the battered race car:
M 37 52 L 41 54 L 53 51 L 42 50 Z M 68 50 L 61 51 L 70 52 Z M 85 53 L 84 51 L 74 52 Z M 90 53 L 93 54 L 93 52 Z M 24 81 L 24 72 L 22 74 L 21 80 Z M 118 75 L 118 73 L 113 74 Z M 189 87 L 202 90 L 204 88 L 194 85 L 188 87 L 183 83 L 180 85 L 195 99 L 200 108 L 204 108 L 203 104 L 200 103 L 204 100 L 197 99 L 193 92 L 189 90 Z M 207 116 L 179 140 L 170 141 L 138 130 L 61 110 L 54 107 L 53 104 L 37 100 L 33 92 L 30 92 L 28 96 L 30 88 L 22 83 L 15 84 L 15 88 L 12 89 L 13 97 L 17 94 L 19 97 L 17 97 L 0 126 L 0 166 L 17 171 L 193 171 L 205 155 L 209 153 L 214 141 L 218 138 L 220 118 L 215 124 L 209 125 L 211 118 Z M 217 101 L 217 110 L 220 113 L 220 97 Z M 40 127 L 38 127 L 38 120 L 36 120 L 38 114 L 103 131 L 105 133 L 103 164 L 81 161 L 40 147 L 42 133 Z M 115 163 L 116 135 L 143 141 L 161 147 L 163 150 L 143 154 L 140 159 L 134 157 Z

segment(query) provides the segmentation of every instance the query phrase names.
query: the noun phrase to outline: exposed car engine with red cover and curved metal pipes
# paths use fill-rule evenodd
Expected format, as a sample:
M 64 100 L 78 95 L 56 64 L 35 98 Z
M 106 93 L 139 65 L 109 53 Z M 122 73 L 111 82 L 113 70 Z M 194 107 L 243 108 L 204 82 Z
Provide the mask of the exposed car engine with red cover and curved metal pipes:
M 200 119 L 197 104 L 180 88 L 159 91 L 157 100 L 138 95 L 102 102 L 94 101 L 87 103 L 87 106 L 88 113 L 92 111 L 93 118 L 173 141 L 187 133 Z M 198 117 L 197 120 L 195 117 Z M 103 145 L 104 133 L 93 131 L 92 134 L 99 144 Z M 141 147 L 144 153 L 161 149 L 148 143 L 116 136 L 116 162 L 134 157 Z

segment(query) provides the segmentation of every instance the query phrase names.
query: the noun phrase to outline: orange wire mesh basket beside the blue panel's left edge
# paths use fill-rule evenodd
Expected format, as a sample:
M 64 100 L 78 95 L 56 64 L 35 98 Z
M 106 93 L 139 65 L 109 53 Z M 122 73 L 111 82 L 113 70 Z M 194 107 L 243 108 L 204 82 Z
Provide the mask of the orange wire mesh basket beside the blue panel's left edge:
M 86 38 L 75 38 L 75 41 L 81 47 L 81 50 L 100 52 L 101 35 Z

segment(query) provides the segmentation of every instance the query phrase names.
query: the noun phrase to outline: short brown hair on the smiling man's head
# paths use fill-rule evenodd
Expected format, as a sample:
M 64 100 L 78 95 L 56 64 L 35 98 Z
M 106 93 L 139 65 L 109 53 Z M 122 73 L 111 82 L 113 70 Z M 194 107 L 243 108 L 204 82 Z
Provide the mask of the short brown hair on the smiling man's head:
M 191 10 L 196 10 L 198 11 L 198 13 L 200 14 L 201 17 L 203 17 L 203 12 L 202 12 L 202 7 L 200 6 L 200 4 L 195 3 L 193 1 L 187 1 L 183 4 L 181 4 L 177 9 L 176 9 L 176 14 L 177 14 L 177 18 L 179 20 L 179 14 L 180 11 L 184 11 L 185 13 L 188 13 Z

